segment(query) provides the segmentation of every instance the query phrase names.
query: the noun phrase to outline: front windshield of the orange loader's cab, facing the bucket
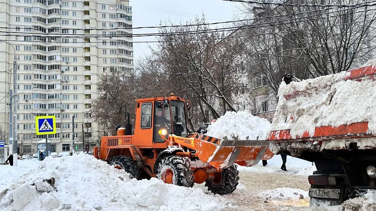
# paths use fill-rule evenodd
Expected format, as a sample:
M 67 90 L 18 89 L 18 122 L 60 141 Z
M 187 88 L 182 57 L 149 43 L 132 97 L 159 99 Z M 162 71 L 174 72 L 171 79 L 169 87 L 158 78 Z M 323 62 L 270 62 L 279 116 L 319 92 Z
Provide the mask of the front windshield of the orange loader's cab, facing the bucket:
M 188 133 L 183 101 L 171 100 L 171 115 L 173 134 L 186 137 Z

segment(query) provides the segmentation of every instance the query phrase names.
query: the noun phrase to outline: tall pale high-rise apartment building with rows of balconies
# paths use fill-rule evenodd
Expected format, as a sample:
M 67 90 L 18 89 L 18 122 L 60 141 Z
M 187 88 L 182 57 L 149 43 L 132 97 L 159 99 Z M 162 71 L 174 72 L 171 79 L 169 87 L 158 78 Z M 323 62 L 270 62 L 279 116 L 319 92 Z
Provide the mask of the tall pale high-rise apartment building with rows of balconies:
M 0 130 L 8 137 L 9 89 L 17 60 L 18 143 L 35 153 L 45 136 L 35 117 L 55 115 L 52 151 L 70 151 L 72 136 L 103 136 L 91 118 L 97 82 L 108 71 L 133 72 L 128 0 L 0 0 Z M 72 116 L 74 124 L 72 124 Z M 75 133 L 72 133 L 72 127 Z M 8 141 L 6 141 L 8 142 Z

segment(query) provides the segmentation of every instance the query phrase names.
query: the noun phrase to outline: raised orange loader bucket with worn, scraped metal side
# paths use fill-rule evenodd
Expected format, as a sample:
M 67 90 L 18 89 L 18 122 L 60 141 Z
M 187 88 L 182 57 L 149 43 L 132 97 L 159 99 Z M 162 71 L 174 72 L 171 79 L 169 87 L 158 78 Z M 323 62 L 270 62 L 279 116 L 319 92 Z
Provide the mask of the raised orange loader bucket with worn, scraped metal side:
M 265 140 L 221 140 L 197 133 L 194 145 L 196 155 L 202 162 L 221 169 L 234 163 L 254 166 L 274 155 L 269 150 L 269 142 Z

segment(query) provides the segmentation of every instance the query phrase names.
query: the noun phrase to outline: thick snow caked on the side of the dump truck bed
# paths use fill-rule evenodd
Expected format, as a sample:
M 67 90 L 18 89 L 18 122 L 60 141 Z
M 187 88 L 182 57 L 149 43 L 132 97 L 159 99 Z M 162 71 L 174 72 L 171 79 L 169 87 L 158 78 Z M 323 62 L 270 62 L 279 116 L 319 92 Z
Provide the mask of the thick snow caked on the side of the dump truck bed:
M 344 80 L 347 76 L 349 72 L 340 72 L 288 85 L 282 82 L 271 130 L 290 129 L 295 138 L 305 131 L 313 136 L 315 127 L 319 126 L 368 121 L 370 132 L 376 132 L 373 109 L 376 83 L 369 78 Z

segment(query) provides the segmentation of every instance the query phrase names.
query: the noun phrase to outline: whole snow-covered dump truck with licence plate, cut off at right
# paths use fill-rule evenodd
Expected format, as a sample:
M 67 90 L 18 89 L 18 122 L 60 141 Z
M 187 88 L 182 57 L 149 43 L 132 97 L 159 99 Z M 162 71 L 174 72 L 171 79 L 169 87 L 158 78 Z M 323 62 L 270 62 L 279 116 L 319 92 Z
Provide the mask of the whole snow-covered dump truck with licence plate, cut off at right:
M 315 163 L 311 204 L 375 189 L 376 65 L 281 84 L 267 140 L 275 154 Z

